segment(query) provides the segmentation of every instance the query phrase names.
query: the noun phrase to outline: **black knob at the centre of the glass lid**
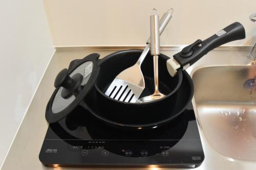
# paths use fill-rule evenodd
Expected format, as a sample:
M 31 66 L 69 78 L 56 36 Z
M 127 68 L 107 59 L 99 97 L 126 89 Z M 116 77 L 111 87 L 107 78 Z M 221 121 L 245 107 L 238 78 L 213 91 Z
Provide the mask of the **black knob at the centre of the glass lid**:
M 68 69 L 64 68 L 57 75 L 54 82 L 54 87 L 63 87 L 63 90 L 61 91 L 61 97 L 67 99 L 73 94 L 73 92 L 77 92 L 77 89 L 80 87 L 82 80 L 83 76 L 81 74 L 77 73 L 70 77 L 68 74 Z

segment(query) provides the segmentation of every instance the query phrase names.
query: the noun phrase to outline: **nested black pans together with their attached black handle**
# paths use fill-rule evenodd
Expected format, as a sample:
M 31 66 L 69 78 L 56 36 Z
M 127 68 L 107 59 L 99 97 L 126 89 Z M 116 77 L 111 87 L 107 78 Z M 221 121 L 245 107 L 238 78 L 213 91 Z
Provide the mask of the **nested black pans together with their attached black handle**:
M 151 129 L 162 126 L 182 113 L 191 101 L 193 82 L 183 66 L 191 65 L 214 48 L 230 41 L 245 38 L 245 30 L 241 23 L 234 22 L 217 34 L 201 41 L 197 40 L 174 55 L 180 64 L 177 75 L 171 77 L 166 68 L 167 56 L 159 56 L 159 89 L 166 96 L 148 103 L 126 103 L 114 100 L 104 94 L 105 90 L 119 74 L 132 66 L 139 58 L 141 50 L 126 50 L 106 56 L 99 61 L 99 75 L 90 97 L 81 104 L 94 116 L 111 126 L 123 129 Z M 146 88 L 141 96 L 153 93 L 153 58 L 147 56 L 142 64 Z

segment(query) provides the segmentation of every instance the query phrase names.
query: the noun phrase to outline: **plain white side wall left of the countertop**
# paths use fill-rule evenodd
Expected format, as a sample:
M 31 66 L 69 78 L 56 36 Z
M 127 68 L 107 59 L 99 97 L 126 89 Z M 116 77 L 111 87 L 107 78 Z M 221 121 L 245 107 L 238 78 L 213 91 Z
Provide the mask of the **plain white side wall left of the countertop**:
M 1 167 L 54 48 L 41 0 L 1 1 L 0 23 Z

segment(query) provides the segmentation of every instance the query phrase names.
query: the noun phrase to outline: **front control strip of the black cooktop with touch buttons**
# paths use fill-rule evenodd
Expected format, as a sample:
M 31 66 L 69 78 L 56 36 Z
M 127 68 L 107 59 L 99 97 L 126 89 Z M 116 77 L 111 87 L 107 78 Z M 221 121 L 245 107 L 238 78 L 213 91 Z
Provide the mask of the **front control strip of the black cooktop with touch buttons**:
M 201 164 L 204 154 L 200 140 L 47 140 L 42 146 L 40 160 L 47 165 L 68 164 Z M 177 145 L 176 145 L 177 144 Z M 186 148 L 181 146 L 187 146 Z

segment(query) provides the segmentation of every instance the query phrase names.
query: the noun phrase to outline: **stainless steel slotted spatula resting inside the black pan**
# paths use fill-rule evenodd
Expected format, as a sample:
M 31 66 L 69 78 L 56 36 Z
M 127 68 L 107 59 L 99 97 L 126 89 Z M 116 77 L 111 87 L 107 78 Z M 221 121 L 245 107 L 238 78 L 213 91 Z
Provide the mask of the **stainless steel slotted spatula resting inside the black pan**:
M 172 18 L 173 9 L 168 9 L 159 21 L 159 33 L 163 32 L 170 18 Z M 140 69 L 141 63 L 150 51 L 150 38 L 147 40 L 146 47 L 141 53 L 138 61 L 132 67 L 126 68 L 114 79 L 109 88 L 105 91 L 105 95 L 110 98 L 135 103 L 145 88 L 144 77 Z

